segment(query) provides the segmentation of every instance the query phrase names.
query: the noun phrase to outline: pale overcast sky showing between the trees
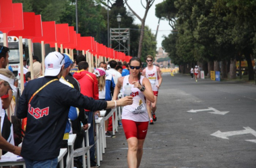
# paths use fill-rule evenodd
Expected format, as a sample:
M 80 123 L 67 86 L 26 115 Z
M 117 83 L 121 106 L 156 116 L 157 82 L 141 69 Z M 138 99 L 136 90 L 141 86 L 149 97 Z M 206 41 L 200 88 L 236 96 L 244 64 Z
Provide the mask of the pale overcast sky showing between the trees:
M 152 7 L 150 7 L 150 10 L 148 11 L 148 15 L 146 17 L 146 26 L 149 26 L 149 28 L 152 30 L 153 34 L 156 34 L 156 28 L 158 26 L 158 17 L 156 17 L 156 15 L 155 15 L 156 4 L 162 3 L 162 1 L 163 0 L 155 0 Z M 142 2 L 143 2 L 143 4 L 146 5 L 145 0 L 142 0 Z M 139 15 L 139 17 L 142 18 L 144 16 L 145 9 L 142 7 L 140 0 L 128 0 L 128 4 L 133 9 L 133 11 L 135 11 Z M 127 7 L 127 10 L 129 11 L 128 7 Z M 135 23 L 141 24 L 141 22 L 139 21 L 139 19 L 137 19 L 137 17 L 135 17 Z M 168 34 L 170 34 L 171 29 L 172 28 L 169 26 L 168 21 L 160 20 L 160 25 L 158 28 L 158 36 L 156 38 L 157 48 L 162 46 L 161 45 L 162 40 L 164 40 L 164 38 L 162 38 L 162 36 L 163 35 L 168 36 Z

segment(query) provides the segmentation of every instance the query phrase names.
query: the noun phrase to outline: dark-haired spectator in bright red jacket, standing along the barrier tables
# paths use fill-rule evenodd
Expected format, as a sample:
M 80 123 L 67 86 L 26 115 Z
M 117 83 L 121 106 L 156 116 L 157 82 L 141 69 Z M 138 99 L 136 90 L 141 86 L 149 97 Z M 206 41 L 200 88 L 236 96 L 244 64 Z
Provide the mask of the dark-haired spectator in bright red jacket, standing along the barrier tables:
M 73 77 L 77 79 L 81 86 L 81 93 L 88 97 L 92 97 L 93 99 L 98 98 L 98 80 L 96 75 L 93 73 L 88 72 L 88 62 L 82 61 L 78 63 L 78 70 L 76 73 L 73 74 Z M 100 109 L 103 110 L 104 108 Z M 94 126 L 95 126 L 95 119 L 94 119 L 94 111 L 86 110 L 86 116 L 88 116 L 88 123 L 91 124 L 89 128 L 89 144 L 94 144 Z M 95 111 L 96 112 L 96 111 Z M 99 115 L 99 112 L 96 112 Z M 86 138 L 85 138 L 86 142 Z M 90 164 L 91 166 L 96 166 L 96 159 L 95 159 L 95 146 L 90 149 Z

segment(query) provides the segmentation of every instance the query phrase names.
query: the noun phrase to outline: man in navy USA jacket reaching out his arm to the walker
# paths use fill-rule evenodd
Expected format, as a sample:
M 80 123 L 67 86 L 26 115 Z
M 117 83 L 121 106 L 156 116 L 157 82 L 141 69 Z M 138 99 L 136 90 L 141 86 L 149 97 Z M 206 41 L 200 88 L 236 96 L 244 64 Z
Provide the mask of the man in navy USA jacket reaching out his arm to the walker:
M 70 106 L 97 111 L 132 103 L 132 97 L 94 100 L 61 83 L 65 60 L 59 52 L 49 53 L 44 62 L 45 77 L 30 81 L 18 104 L 18 118 L 28 118 L 21 153 L 27 168 L 57 167 Z M 39 91 L 49 81 L 52 82 Z

